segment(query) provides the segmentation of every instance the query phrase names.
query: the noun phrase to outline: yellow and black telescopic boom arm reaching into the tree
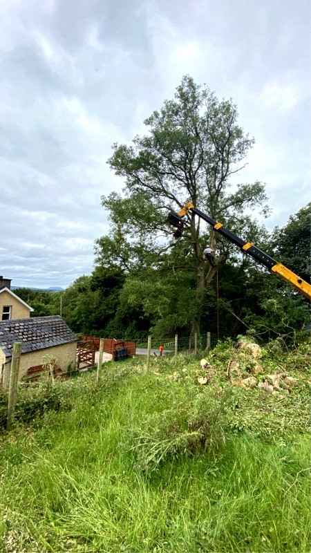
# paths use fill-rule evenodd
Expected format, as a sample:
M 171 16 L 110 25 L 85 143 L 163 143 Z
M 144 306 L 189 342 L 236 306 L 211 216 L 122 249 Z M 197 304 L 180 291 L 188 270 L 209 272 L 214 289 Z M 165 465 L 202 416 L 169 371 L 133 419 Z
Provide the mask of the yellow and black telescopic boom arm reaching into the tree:
M 298 290 L 298 292 L 311 300 L 311 285 L 308 284 L 308 282 L 305 282 L 303 279 L 298 277 L 296 274 L 294 274 L 294 272 L 285 267 L 285 265 L 282 265 L 282 263 L 278 263 L 277 261 L 275 261 L 275 259 L 272 259 L 272 257 L 265 254 L 265 252 L 259 250 L 259 248 L 256 247 L 252 242 L 245 242 L 245 240 L 236 236 L 234 232 L 226 229 L 223 226 L 223 223 L 216 223 L 216 221 L 211 219 L 211 217 L 205 215 L 205 213 L 201 212 L 200 209 L 194 207 L 191 202 L 187 202 L 185 206 L 180 210 L 180 212 L 170 212 L 169 214 L 169 223 L 171 223 L 171 225 L 173 225 L 174 227 L 177 227 L 177 230 L 175 232 L 176 238 L 179 238 L 179 236 L 181 236 L 182 234 L 182 217 L 187 215 L 188 212 L 198 215 L 201 219 L 209 223 L 209 225 L 214 228 L 215 232 L 218 232 L 218 234 L 221 234 L 221 236 L 225 236 L 225 238 L 227 238 L 230 242 L 237 245 L 243 253 L 251 256 L 255 261 L 257 261 L 257 263 L 261 263 L 261 265 L 263 265 L 263 267 L 265 267 L 268 271 L 275 272 L 279 277 L 281 277 L 281 279 L 292 284 L 292 286 L 296 290 Z

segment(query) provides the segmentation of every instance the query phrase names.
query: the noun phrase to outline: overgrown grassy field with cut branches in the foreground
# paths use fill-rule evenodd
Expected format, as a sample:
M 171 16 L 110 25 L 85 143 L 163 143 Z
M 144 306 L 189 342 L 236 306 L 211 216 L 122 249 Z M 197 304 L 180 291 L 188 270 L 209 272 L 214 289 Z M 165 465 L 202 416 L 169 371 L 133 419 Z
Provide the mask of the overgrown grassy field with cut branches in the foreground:
M 91 372 L 21 389 L 0 431 L 0 551 L 310 553 L 308 346 L 261 352 L 257 381 L 296 379 L 274 393 L 229 382 L 232 358 L 249 376 L 227 342 L 207 368 L 129 359 L 97 388 Z

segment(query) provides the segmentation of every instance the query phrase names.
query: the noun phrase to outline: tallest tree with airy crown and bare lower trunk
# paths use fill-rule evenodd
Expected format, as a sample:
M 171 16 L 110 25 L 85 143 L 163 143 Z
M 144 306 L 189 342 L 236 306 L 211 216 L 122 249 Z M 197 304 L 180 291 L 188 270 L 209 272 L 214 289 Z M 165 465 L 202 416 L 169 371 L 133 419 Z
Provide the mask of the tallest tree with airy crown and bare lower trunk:
M 109 164 L 125 179 L 125 187 L 123 195 L 102 197 L 112 230 L 110 236 L 97 241 L 97 262 L 109 253 L 111 263 L 129 272 L 147 266 L 162 270 L 159 254 L 176 247 L 178 252 L 183 250 L 179 265 L 193 272 L 195 279 L 196 293 L 191 299 L 191 331 L 195 332 L 200 328 L 205 290 L 216 271 L 201 261 L 211 231 L 189 214 L 183 246 L 176 246 L 167 215 L 170 209 L 178 211 L 191 201 L 234 230 L 252 227 L 245 209 L 267 212 L 264 187 L 254 182 L 232 189 L 230 178 L 245 167 L 254 139 L 238 125 L 232 100 L 218 100 L 207 86 L 197 85 L 189 76 L 183 77 L 173 100 L 166 100 L 144 124 L 147 134 L 136 136 L 133 144 L 113 145 Z M 227 243 L 219 240 L 217 247 L 218 260 L 229 256 Z M 173 268 L 166 255 L 163 259 L 170 270 L 179 268 L 176 256 Z

